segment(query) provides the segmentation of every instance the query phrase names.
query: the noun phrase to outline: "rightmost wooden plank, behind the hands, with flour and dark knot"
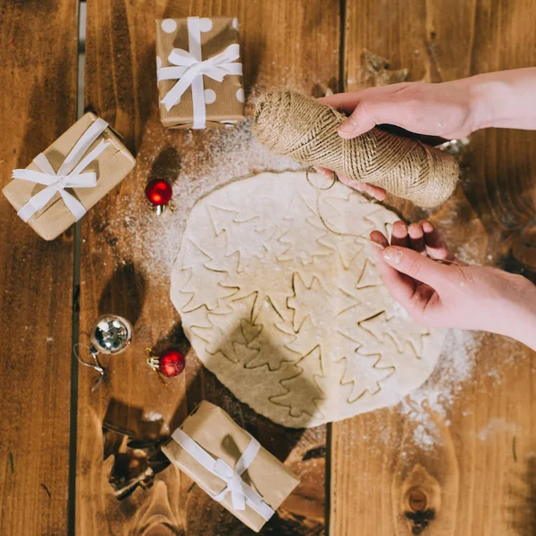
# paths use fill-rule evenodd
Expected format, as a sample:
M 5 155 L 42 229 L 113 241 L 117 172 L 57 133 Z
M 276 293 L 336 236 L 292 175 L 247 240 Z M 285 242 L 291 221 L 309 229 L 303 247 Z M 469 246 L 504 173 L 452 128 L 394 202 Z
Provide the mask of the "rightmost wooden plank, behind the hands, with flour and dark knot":
M 531 66 L 535 15 L 528 0 L 348 0 L 346 89 L 366 82 L 364 48 L 408 67 L 410 80 Z M 531 276 L 535 153 L 534 132 L 473 135 L 463 185 L 475 212 L 460 191 L 436 216 L 466 258 Z M 407 220 L 423 215 L 393 205 Z M 534 356 L 510 339 L 458 334 L 414 403 L 334 424 L 331 534 L 357 523 L 386 536 L 532 533 Z

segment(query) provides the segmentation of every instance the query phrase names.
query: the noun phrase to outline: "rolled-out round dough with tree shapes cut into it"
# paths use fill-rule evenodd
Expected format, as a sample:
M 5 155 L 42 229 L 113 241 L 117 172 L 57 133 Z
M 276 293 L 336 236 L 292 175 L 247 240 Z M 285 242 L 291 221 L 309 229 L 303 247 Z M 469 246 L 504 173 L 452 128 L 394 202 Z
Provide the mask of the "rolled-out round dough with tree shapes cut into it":
M 314 188 L 305 172 L 263 173 L 197 201 L 172 273 L 197 356 L 293 428 L 396 403 L 431 374 L 445 335 L 415 324 L 381 282 L 364 237 L 396 220 L 339 182 Z

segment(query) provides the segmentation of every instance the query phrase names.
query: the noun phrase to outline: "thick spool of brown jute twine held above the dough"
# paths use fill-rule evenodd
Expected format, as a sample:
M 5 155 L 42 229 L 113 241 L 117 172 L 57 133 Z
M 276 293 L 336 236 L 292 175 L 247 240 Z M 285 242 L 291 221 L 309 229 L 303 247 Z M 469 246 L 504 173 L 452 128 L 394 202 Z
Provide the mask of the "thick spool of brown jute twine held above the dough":
M 343 172 L 415 205 L 438 206 L 452 195 L 459 175 L 452 155 L 376 128 L 358 138 L 340 138 L 337 128 L 345 119 L 307 96 L 273 91 L 259 98 L 253 130 L 278 155 Z

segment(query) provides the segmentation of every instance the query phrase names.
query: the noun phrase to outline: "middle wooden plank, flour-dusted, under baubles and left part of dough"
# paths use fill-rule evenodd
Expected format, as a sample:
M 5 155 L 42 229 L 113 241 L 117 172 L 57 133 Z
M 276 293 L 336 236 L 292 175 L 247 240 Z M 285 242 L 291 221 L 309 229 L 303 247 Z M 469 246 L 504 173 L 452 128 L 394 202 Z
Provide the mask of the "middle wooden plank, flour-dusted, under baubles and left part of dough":
M 194 132 L 160 126 L 154 19 L 188 15 L 239 18 L 247 95 L 280 84 L 315 95 L 338 86 L 336 1 L 156 0 L 134 6 L 122 0 L 92 0 L 88 4 L 86 102 L 126 138 L 138 155 L 138 165 L 85 222 L 80 323 L 84 331 L 98 314 L 114 312 L 136 325 L 132 348 L 108 362 L 109 383 L 91 393 L 91 373 L 80 372 L 78 531 L 116 534 L 151 526 L 163 533 L 250 533 L 201 490 L 191 488 L 174 468 L 159 475 L 150 492 L 138 490 L 121 505 L 107 482 L 112 460 L 103 463 L 100 428 L 111 403 L 116 423 L 149 436 L 159 427 L 155 420 L 162 418 L 164 432 L 172 430 L 200 399 L 207 398 L 303 477 L 303 485 L 264 532 L 321 533 L 325 427 L 289 431 L 240 404 L 188 352 L 169 298 L 172 262 L 185 216 L 196 199 L 207 188 L 236 176 L 288 165 L 253 144 L 250 122 L 237 129 Z M 174 182 L 176 209 L 162 218 L 148 209 L 143 196 L 147 181 L 157 176 Z M 163 388 L 145 363 L 144 348 L 171 344 L 188 352 L 187 368 Z M 172 528 L 164 529 L 164 524 Z

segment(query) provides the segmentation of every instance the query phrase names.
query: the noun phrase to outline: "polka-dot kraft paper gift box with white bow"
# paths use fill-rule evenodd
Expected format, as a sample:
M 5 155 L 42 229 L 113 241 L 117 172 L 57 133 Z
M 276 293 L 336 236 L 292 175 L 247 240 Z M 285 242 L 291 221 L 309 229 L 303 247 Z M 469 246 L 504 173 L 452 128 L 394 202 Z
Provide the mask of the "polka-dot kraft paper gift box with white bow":
M 238 19 L 156 20 L 156 67 L 164 127 L 204 129 L 244 118 Z

